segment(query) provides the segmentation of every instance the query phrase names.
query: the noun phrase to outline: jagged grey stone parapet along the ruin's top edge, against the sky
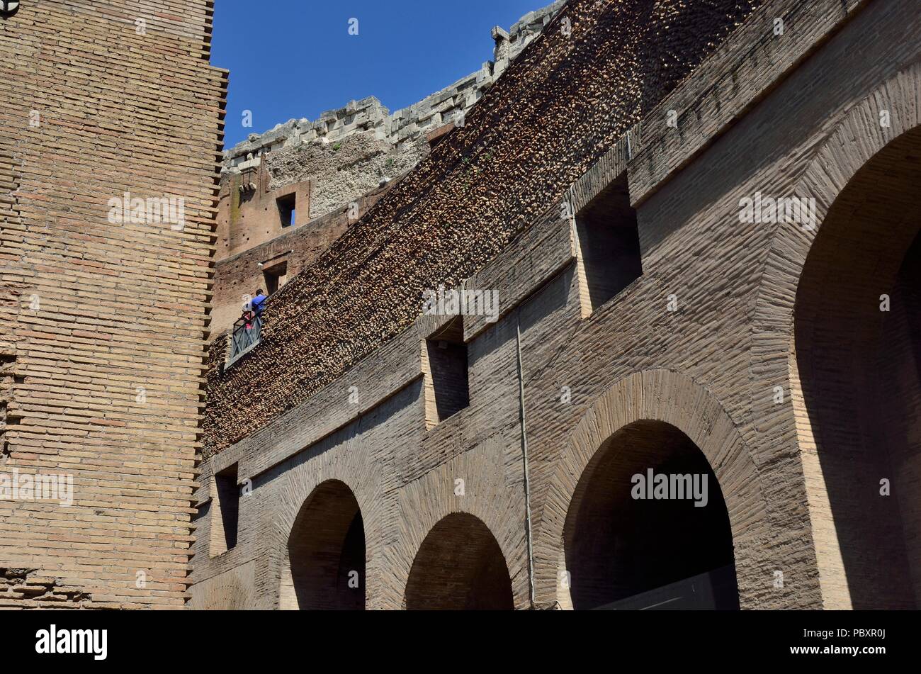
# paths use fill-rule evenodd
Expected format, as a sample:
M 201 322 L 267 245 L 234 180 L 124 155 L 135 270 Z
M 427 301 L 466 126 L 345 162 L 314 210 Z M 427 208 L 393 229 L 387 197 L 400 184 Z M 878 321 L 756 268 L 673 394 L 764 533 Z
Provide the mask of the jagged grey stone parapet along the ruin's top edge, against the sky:
M 543 32 L 565 3 L 566 0 L 557 0 L 553 5 L 530 12 L 508 31 L 492 29 L 493 61 L 408 108 L 391 113 L 379 99 L 369 96 L 352 100 L 344 108 L 327 110 L 313 122 L 289 120 L 264 134 L 250 134 L 246 141 L 227 150 L 224 167 L 245 170 L 258 166 L 262 157 L 279 150 L 311 142 L 338 143 L 352 134 L 373 133 L 379 140 L 402 149 L 445 124 L 460 124 L 467 111 L 483 98 L 485 90 Z

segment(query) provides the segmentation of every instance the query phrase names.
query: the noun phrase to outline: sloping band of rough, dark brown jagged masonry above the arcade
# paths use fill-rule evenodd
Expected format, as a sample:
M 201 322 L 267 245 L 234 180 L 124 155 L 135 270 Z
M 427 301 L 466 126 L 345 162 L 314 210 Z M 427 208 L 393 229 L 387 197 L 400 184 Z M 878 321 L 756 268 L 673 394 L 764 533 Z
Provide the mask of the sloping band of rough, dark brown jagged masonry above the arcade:
M 411 325 L 426 288 L 491 260 L 757 4 L 565 6 L 465 125 L 269 303 L 257 349 L 225 370 L 226 345 L 212 344 L 205 454 Z

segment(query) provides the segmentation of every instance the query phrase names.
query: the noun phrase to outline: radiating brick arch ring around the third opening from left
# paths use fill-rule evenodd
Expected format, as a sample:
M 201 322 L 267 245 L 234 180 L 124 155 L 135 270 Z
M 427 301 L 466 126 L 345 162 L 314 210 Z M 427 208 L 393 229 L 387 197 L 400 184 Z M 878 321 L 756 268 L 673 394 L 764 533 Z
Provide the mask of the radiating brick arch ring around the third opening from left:
M 601 394 L 556 460 L 534 551 L 539 603 L 574 608 L 565 529 L 571 507 L 581 506 L 579 482 L 599 468 L 605 443 L 624 429 L 644 425 L 673 428 L 670 442 L 686 437 L 709 464 L 729 517 L 740 605 L 754 606 L 757 594 L 770 589 L 772 577 L 769 569 L 759 568 L 765 564 L 759 552 L 767 525 L 758 471 L 719 402 L 692 378 L 664 369 L 635 373 Z

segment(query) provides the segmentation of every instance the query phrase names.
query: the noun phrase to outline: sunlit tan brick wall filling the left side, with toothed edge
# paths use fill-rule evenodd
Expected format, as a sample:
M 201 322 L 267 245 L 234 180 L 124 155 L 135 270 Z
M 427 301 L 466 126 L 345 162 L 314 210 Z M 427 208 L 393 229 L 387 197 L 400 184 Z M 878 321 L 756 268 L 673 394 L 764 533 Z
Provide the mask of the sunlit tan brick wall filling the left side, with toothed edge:
M 0 500 L 2 606 L 185 603 L 227 87 L 212 15 L 42 0 L 0 18 L 0 475 L 73 481 L 70 506 Z M 124 192 L 184 199 L 184 225 L 111 222 Z

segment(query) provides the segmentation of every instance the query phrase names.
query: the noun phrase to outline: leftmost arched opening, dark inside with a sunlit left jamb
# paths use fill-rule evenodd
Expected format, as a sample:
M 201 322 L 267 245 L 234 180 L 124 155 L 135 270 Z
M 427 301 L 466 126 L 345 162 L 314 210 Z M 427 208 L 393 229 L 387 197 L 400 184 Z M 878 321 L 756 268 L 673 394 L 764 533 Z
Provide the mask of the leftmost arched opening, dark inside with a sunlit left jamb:
M 297 514 L 288 537 L 282 610 L 364 610 L 365 524 L 343 482 L 323 482 Z

